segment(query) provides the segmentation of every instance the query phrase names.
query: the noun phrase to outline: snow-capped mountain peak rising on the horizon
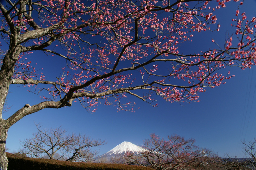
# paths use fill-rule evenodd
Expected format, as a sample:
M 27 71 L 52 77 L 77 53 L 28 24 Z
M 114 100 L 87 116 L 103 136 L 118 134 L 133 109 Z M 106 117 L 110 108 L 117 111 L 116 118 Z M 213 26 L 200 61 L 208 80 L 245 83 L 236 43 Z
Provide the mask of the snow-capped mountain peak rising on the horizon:
M 116 162 L 117 159 L 120 160 L 120 158 L 123 158 L 126 152 L 139 153 L 143 150 L 144 150 L 143 148 L 135 144 L 132 144 L 131 142 L 123 142 L 117 145 L 115 148 L 108 151 L 107 153 L 100 155 L 97 158 L 96 162 L 105 162 L 105 163 Z

